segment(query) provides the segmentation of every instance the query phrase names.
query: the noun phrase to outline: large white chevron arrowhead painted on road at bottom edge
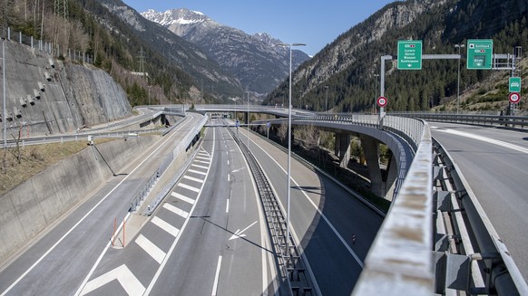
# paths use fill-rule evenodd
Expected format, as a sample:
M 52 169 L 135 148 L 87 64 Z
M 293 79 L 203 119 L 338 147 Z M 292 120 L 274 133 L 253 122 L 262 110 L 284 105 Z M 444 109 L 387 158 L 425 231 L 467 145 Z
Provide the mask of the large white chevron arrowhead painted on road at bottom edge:
M 113 280 L 117 280 L 117 282 L 121 284 L 122 289 L 124 289 L 124 291 L 126 291 L 126 293 L 129 295 L 142 295 L 145 291 L 145 287 L 143 287 L 142 282 L 140 282 L 135 277 L 135 275 L 133 275 L 133 273 L 130 271 L 130 269 L 128 269 L 128 267 L 126 267 L 125 264 L 122 264 L 121 266 L 112 269 L 112 271 L 106 272 L 102 276 L 86 283 L 81 295 L 85 295 L 91 291 L 99 289 L 103 287 L 103 285 L 112 282 Z

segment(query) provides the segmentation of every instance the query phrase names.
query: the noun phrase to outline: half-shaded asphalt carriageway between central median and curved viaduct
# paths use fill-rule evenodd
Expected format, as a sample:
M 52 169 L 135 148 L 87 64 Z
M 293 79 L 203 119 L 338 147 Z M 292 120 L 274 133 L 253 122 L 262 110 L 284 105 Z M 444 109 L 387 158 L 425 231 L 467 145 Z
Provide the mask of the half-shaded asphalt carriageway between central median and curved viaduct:
M 239 136 L 244 142 L 246 134 L 245 129 L 240 129 Z M 249 138 L 249 149 L 285 209 L 287 154 L 256 135 Z M 304 250 L 318 290 L 323 295 L 350 295 L 382 218 L 295 159 L 291 160 L 290 195 L 292 234 Z

